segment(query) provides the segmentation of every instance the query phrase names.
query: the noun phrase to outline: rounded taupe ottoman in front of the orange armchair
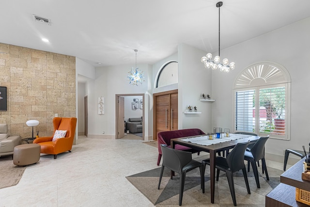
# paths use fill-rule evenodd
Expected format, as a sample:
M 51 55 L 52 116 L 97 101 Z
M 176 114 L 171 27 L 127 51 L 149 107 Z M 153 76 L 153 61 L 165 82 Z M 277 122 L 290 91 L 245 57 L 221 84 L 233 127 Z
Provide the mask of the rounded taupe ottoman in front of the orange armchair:
M 40 144 L 20 144 L 14 147 L 13 163 L 25 166 L 36 163 L 40 159 Z

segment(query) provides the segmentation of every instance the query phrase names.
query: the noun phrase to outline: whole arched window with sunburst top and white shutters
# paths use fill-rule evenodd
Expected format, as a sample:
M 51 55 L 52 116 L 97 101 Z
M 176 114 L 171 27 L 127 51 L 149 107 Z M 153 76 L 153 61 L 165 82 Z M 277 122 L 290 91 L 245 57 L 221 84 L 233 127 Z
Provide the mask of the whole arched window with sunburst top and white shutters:
M 275 64 L 255 64 L 235 81 L 234 132 L 290 139 L 290 77 Z

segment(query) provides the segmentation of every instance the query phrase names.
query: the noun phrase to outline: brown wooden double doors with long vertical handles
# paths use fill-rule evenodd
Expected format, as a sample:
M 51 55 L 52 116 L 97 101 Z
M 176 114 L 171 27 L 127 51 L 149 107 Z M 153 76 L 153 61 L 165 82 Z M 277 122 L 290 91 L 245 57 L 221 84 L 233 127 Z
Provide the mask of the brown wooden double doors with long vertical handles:
M 178 90 L 154 94 L 153 100 L 153 140 L 156 140 L 158 132 L 178 129 Z

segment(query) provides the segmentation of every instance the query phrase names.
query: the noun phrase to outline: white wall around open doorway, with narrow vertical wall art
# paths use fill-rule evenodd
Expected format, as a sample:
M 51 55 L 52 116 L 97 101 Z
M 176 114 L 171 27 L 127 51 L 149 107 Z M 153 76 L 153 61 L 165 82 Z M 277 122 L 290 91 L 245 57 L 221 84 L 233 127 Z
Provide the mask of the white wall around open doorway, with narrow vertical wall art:
M 89 134 L 91 137 L 104 137 L 115 139 L 115 95 L 116 94 L 145 94 L 144 110 L 150 110 L 149 101 L 149 78 L 148 72 L 150 66 L 139 64 L 139 69 L 144 71 L 144 80 L 141 85 L 130 85 L 127 81 L 128 71 L 133 65 L 118 65 L 98 67 L 95 69 L 95 81 L 93 97 L 89 98 L 89 108 L 95 109 L 89 111 Z M 105 98 L 105 114 L 99 115 L 97 109 L 97 99 L 103 96 Z M 145 140 L 152 139 L 152 130 L 149 131 L 149 116 L 145 116 L 144 136 Z M 153 117 L 151 117 L 153 118 Z M 152 121 L 152 120 L 151 120 Z M 102 131 L 105 134 L 102 135 Z

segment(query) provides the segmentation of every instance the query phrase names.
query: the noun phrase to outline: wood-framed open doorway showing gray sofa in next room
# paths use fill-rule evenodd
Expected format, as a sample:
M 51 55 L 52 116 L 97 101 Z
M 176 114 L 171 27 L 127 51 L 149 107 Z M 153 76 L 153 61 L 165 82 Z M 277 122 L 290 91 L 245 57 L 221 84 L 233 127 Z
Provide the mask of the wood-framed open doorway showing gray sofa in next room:
M 144 94 L 117 94 L 115 103 L 115 139 L 144 140 Z

